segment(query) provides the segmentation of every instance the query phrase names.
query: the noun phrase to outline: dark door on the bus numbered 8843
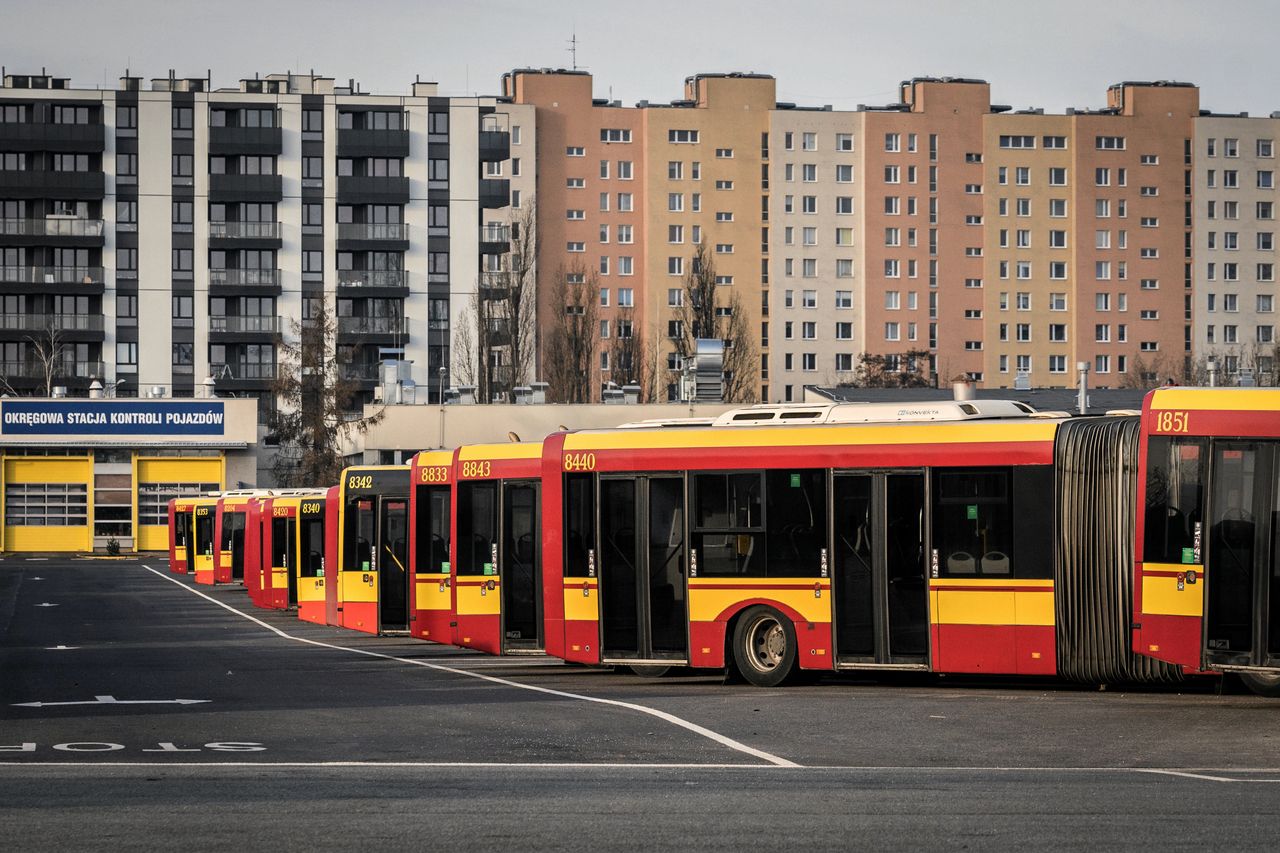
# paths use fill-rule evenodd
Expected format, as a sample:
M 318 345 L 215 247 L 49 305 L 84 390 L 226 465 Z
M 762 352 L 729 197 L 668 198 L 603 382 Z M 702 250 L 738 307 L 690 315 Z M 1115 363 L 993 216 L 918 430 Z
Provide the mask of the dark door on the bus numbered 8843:
M 541 649 L 541 542 L 536 480 L 504 480 L 502 501 L 503 651 Z

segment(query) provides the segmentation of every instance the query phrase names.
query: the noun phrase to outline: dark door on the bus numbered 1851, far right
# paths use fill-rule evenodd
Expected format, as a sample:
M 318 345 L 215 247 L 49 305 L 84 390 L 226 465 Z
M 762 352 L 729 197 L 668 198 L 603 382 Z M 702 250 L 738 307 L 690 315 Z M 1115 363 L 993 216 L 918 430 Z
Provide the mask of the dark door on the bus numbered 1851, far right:
M 1206 665 L 1277 666 L 1280 442 L 1213 441 L 1207 508 Z

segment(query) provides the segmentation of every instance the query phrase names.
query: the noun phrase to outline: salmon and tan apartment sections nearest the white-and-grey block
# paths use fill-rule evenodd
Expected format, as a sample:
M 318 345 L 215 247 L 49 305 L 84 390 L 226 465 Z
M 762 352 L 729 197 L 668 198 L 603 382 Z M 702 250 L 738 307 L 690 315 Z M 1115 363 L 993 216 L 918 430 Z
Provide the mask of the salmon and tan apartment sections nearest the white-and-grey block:
M 503 95 L 538 110 L 540 146 L 539 309 L 554 288 L 548 277 L 596 273 L 600 287 L 598 386 L 635 379 L 628 365 L 609 361 L 609 338 L 645 334 L 655 393 L 677 393 L 673 336 L 685 272 L 699 247 L 712 259 L 722 287 L 741 295 L 750 328 L 758 329 L 768 277 L 768 172 L 763 168 L 772 77 L 699 74 L 671 104 L 591 97 L 584 72 L 517 69 L 503 77 Z M 563 151 L 563 158 L 559 152 Z M 764 339 L 758 393 L 767 392 Z

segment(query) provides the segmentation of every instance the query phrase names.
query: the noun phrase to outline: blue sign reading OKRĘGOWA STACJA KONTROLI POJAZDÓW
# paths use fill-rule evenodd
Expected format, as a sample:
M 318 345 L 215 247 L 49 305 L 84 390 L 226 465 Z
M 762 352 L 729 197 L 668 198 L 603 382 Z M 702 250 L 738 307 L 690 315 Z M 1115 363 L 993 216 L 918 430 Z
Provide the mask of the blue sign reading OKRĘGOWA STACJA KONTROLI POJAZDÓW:
M 219 401 L 5 400 L 5 435 L 221 435 L 227 415 Z

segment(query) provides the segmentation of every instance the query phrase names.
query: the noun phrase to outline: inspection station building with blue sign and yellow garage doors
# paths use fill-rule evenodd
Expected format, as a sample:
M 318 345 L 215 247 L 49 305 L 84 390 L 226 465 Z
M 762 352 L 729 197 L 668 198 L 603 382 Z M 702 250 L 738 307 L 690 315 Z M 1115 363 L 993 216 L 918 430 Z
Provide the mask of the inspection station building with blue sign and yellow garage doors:
M 170 498 L 256 480 L 257 401 L 0 400 L 0 551 L 168 547 Z

